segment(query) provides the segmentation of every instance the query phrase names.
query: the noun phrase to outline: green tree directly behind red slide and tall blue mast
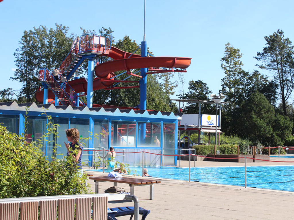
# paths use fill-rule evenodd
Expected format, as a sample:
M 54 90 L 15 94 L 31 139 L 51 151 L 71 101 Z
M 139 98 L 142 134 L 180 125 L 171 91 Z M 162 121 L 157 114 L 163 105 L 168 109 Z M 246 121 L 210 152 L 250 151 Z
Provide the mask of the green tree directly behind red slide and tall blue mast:
M 113 31 L 111 28 L 102 28 L 99 31 L 101 34 L 112 34 Z M 126 51 L 128 53 L 141 54 L 141 48 L 136 43 L 135 40 L 132 40 L 129 36 L 124 36 L 122 40 L 118 40 L 117 43 L 113 43 L 113 46 Z M 106 56 L 98 56 L 98 62 L 107 62 L 111 58 Z M 133 70 L 133 73 L 140 75 L 140 69 Z M 119 75 L 125 71 L 118 71 L 115 74 Z M 126 79 L 128 75 L 123 74 L 117 76 L 116 80 Z M 139 81 L 140 78 L 131 76 L 127 80 L 129 81 Z M 138 86 L 138 83 L 120 83 L 117 87 L 126 87 L 126 86 Z M 147 77 L 147 109 L 161 110 L 161 111 L 172 111 L 175 110 L 174 104 L 169 98 L 169 92 L 165 92 L 169 88 L 163 89 L 163 84 L 158 82 L 158 78 L 155 75 L 148 75 Z M 131 88 L 131 89 L 111 89 L 111 90 L 97 90 L 93 93 L 93 102 L 97 104 L 109 104 L 115 106 L 128 106 L 136 107 L 140 104 L 140 89 Z

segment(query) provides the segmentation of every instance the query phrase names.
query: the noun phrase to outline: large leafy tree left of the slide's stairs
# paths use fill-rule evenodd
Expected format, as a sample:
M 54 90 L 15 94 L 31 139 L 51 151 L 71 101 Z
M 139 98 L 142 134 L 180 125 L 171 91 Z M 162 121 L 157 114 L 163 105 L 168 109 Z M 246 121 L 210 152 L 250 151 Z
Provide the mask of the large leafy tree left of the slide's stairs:
M 24 31 L 16 49 L 17 69 L 12 80 L 22 83 L 19 94 L 20 101 L 36 101 L 35 93 L 39 88 L 38 70 L 53 69 L 61 64 L 70 50 L 73 40 L 72 34 L 67 37 L 68 27 L 55 24 L 55 29 L 46 26 L 34 27 Z

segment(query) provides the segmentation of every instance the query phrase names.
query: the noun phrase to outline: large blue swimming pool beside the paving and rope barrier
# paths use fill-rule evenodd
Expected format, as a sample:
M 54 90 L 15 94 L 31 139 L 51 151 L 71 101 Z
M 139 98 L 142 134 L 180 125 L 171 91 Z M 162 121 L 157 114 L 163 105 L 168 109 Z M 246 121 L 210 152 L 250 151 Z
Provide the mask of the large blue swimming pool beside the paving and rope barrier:
M 142 175 L 141 167 L 130 168 Z M 157 178 L 189 180 L 189 168 L 148 167 L 148 173 Z M 245 167 L 191 167 L 190 181 L 245 186 Z M 294 192 L 294 166 L 249 166 L 247 187 Z

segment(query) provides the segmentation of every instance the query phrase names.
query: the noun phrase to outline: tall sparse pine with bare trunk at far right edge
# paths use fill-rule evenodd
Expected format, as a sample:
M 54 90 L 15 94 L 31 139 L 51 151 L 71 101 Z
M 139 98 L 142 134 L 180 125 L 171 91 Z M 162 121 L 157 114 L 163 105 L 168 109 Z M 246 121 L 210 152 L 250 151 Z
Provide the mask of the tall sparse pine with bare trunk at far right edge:
M 273 75 L 275 83 L 279 85 L 277 94 L 282 101 L 283 114 L 287 115 L 287 106 L 293 104 L 287 105 L 294 86 L 293 45 L 289 38 L 285 38 L 284 32 L 280 29 L 264 38 L 267 46 L 255 57 L 263 64 L 257 66 L 268 70 Z

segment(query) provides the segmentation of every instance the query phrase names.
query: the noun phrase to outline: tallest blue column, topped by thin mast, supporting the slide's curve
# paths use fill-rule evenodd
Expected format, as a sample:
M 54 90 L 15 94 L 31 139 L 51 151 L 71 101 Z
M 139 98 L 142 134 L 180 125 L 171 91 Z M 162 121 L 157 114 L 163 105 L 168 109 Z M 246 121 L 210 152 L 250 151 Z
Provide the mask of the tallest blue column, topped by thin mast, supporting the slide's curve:
M 144 40 L 141 42 L 141 57 L 147 57 L 147 42 Z M 139 81 L 140 86 L 140 110 L 146 110 L 147 103 L 147 71 L 148 68 L 141 68 L 142 79 Z M 145 143 L 146 138 L 146 124 L 141 124 L 141 144 Z

